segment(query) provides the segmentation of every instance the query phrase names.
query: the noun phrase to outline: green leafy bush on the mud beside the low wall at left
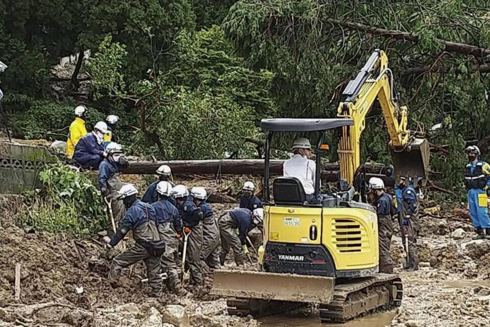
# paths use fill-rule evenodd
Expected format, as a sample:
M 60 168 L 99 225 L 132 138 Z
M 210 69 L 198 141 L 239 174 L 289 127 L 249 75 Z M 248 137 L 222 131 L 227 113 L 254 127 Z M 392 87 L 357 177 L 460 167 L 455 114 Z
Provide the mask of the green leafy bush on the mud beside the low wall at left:
M 61 163 L 47 165 L 39 174 L 43 189 L 21 214 L 21 224 L 74 235 L 88 235 L 102 229 L 107 219 L 105 206 L 88 174 Z

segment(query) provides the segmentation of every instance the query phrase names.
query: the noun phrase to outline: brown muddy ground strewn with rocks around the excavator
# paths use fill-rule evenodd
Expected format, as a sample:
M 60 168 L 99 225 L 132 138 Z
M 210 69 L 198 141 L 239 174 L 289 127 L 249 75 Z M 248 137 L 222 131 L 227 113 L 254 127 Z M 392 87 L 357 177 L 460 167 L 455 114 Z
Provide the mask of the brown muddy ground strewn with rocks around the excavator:
M 209 180 L 209 187 L 215 183 Z M 144 268 L 125 270 L 120 287 L 107 281 L 109 260 L 96 236 L 76 240 L 21 229 L 21 197 L 0 198 L 0 326 L 316 326 L 315 308 L 260 318 L 226 315 L 222 298 L 146 295 Z M 426 207 L 433 205 L 430 201 Z M 234 204 L 213 204 L 217 213 Z M 473 241 L 467 213 L 441 204 L 422 215 L 421 269 L 404 272 L 404 299 L 396 311 L 345 326 L 483 326 L 490 321 L 490 240 Z M 461 228 L 461 229 L 459 229 Z M 393 240 L 401 266 L 401 240 Z M 20 300 L 14 299 L 15 264 L 21 264 Z M 250 267 L 249 267 L 250 269 Z M 207 278 L 208 284 L 210 279 Z

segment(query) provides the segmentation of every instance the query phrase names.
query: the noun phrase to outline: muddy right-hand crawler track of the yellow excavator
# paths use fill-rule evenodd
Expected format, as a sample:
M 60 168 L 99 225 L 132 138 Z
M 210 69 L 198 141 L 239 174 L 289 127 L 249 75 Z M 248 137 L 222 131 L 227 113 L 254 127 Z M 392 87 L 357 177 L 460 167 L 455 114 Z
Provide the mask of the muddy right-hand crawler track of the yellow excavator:
M 399 276 L 376 274 L 335 285 L 333 301 L 320 305 L 322 322 L 346 322 L 375 311 L 399 307 L 403 286 Z

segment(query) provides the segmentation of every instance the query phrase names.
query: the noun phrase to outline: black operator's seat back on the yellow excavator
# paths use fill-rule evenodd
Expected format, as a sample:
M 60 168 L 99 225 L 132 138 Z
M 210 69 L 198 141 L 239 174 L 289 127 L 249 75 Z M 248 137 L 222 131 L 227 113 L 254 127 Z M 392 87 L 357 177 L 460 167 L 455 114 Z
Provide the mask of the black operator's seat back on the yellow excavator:
M 304 205 L 306 194 L 296 177 L 277 177 L 273 184 L 274 202 L 278 205 Z

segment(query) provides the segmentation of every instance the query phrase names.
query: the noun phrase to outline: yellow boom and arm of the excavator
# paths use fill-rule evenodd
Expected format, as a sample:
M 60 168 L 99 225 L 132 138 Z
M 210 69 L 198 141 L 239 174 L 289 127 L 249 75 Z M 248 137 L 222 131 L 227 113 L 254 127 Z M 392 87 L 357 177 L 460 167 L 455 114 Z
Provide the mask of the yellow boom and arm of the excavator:
M 388 68 L 388 57 L 382 50 L 376 50 L 362 67 L 356 78 L 351 80 L 342 92 L 345 100 L 340 102 L 337 116 L 352 119 L 354 126 L 342 127 L 342 136 L 339 140 L 338 154 L 340 161 L 340 178 L 350 184 L 354 182 L 354 175 L 360 166 L 360 137 L 365 128 L 366 115 L 374 102 L 379 101 L 390 138 L 392 156 L 406 151 L 410 144 L 407 130 L 408 113 L 405 106 L 400 106 L 393 85 L 393 72 Z M 425 142 L 426 143 L 426 142 Z M 411 147 L 410 147 L 410 150 Z M 408 172 L 425 177 L 428 158 L 418 149 L 411 154 L 416 155 L 421 165 L 416 169 L 403 168 L 398 171 L 402 174 Z M 394 158 L 395 162 L 400 162 Z M 397 169 L 395 169 L 397 171 Z M 423 170 L 423 172 L 421 172 Z

